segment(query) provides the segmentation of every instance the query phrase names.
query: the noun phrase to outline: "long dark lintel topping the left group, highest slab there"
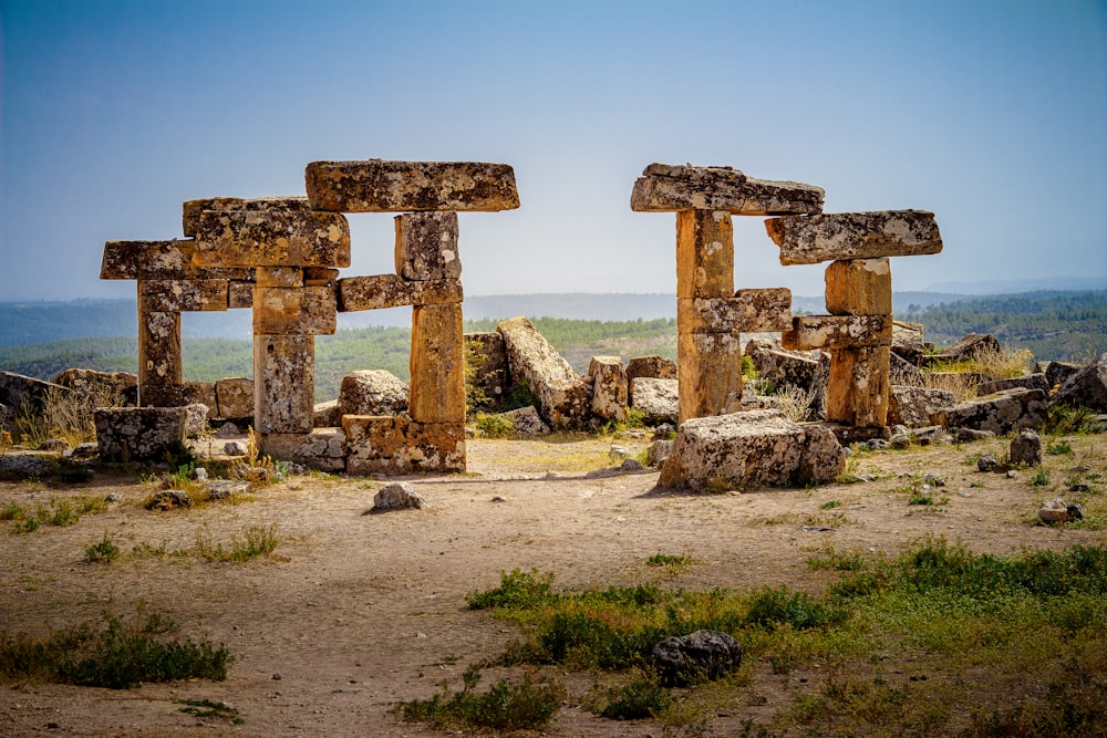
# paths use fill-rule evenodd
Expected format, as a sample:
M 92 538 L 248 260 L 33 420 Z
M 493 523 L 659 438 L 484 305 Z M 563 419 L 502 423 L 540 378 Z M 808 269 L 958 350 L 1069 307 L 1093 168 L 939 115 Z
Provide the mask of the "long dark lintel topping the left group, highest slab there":
M 515 170 L 476 162 L 312 162 L 304 170 L 317 210 L 495 211 L 519 207 Z

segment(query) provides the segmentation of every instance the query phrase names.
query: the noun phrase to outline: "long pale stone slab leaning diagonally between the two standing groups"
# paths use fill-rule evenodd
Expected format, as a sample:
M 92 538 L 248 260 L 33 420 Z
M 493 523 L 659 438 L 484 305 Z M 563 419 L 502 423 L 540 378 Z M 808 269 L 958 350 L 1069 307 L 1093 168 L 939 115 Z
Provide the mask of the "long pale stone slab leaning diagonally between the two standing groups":
M 556 430 L 583 427 L 591 410 L 591 387 L 581 382 L 569 362 L 526 318 L 503 321 L 496 331 L 504 336 L 511 382 L 529 385 L 542 419 Z

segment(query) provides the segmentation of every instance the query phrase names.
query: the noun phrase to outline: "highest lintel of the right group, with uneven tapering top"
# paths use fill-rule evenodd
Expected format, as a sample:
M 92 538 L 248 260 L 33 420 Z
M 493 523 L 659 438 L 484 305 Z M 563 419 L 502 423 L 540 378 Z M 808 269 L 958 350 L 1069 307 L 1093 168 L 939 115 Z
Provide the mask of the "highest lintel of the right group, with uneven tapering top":
M 630 207 L 640 212 L 724 210 L 737 216 L 823 211 L 823 188 L 747 177 L 732 167 L 651 164 L 634 183 Z

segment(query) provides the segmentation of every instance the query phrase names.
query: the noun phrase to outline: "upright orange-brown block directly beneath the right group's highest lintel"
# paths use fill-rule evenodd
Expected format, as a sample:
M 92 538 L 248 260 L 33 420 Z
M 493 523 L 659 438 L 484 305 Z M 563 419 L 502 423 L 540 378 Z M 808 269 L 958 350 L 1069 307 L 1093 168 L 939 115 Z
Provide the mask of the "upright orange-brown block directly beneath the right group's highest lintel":
M 725 210 L 676 214 L 676 297 L 734 293 L 734 225 Z

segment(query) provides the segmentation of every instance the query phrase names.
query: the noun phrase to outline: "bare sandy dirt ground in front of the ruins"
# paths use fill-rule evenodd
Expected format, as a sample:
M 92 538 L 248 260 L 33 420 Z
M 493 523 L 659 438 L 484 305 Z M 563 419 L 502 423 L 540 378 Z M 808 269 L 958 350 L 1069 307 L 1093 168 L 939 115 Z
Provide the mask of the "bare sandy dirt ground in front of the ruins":
M 637 451 L 645 443 L 472 440 L 467 474 L 412 479 L 426 509 L 382 514 L 364 514 L 380 478 L 304 475 L 248 501 L 169 512 L 143 509 L 156 489 L 149 479 L 0 482 L 0 507 L 122 496 L 70 527 L 19 533 L 2 523 L 0 630 L 45 634 L 95 622 L 104 609 L 133 615 L 145 602 L 173 617 L 182 637 L 225 644 L 235 658 L 225 682 L 125 690 L 0 685 L 0 736 L 441 735 L 399 720 L 391 707 L 432 695 L 444 679 L 458 687 L 468 664 L 504 652 L 515 628 L 467 610 L 464 597 L 515 568 L 552 572 L 555 586 L 788 584 L 815 593 L 828 574 L 805 560 L 828 544 L 894 553 L 927 534 L 1000 553 L 1107 544 L 1103 531 L 1033 524 L 1043 499 L 1070 497 L 1065 479 L 1074 467 L 1107 478 L 1104 436 L 1073 439 L 1075 456 L 1047 456 L 1052 482 L 1044 487 L 1032 486 L 1031 471 L 1007 478 L 965 464 L 973 454 L 1003 455 L 1003 439 L 860 455 L 852 470 L 877 479 L 814 489 L 690 496 L 656 489 L 655 471 L 586 474 L 612 464 L 612 444 Z M 925 474 L 946 480 L 933 490 L 940 503 L 909 506 L 906 475 Z M 1086 509 L 1097 510 L 1098 499 L 1087 498 Z M 824 509 L 831 500 L 840 506 Z M 256 524 L 276 526 L 273 555 L 215 563 L 131 553 L 142 543 L 189 549 L 199 538 L 226 544 Z M 85 548 L 105 533 L 124 555 L 85 562 Z M 674 574 L 646 564 L 655 553 L 695 563 Z M 484 684 L 505 673 L 487 669 Z M 736 697 L 738 707 L 712 724 L 714 735 L 736 732 L 747 718 L 768 720 L 817 682 L 782 680 L 767 666 L 757 674 L 743 687 L 748 694 Z M 655 723 L 617 723 L 581 708 L 573 696 L 591 678 L 566 677 L 570 699 L 545 735 L 662 735 Z M 204 698 L 234 707 L 244 723 L 179 711 L 177 700 Z

